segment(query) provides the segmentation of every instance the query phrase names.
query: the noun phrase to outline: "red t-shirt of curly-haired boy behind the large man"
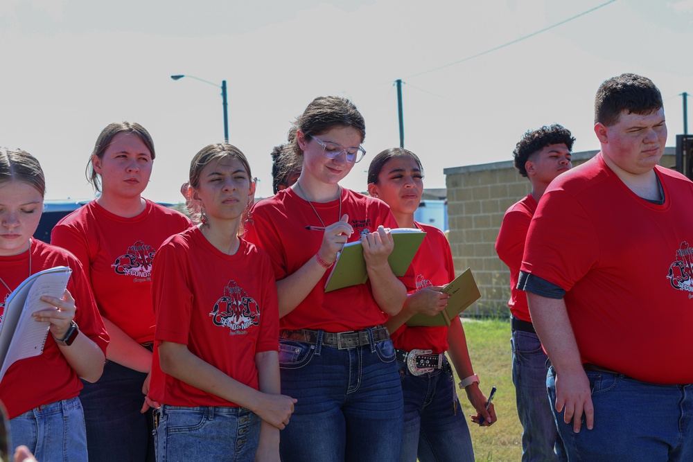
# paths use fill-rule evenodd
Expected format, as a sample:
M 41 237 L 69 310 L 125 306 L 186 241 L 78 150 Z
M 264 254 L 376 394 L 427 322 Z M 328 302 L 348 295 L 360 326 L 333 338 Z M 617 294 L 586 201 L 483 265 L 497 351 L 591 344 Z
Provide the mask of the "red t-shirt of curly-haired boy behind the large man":
M 532 322 L 527 308 L 527 294 L 518 289 L 520 265 L 525 253 L 525 238 L 529 231 L 529 222 L 536 211 L 536 200 L 529 194 L 505 212 L 503 223 L 500 225 L 498 239 L 495 240 L 495 251 L 498 257 L 510 269 L 510 312 L 517 319 Z

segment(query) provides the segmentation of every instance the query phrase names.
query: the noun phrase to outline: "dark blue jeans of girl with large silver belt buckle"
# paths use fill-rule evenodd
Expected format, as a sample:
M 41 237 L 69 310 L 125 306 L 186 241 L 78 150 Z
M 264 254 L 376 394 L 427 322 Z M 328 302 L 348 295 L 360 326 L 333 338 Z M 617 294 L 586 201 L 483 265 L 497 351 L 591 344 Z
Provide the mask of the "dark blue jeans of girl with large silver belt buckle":
M 404 441 L 399 460 L 474 462 L 466 416 L 459 406 L 453 371 L 444 368 L 412 375 L 398 361 L 404 395 Z

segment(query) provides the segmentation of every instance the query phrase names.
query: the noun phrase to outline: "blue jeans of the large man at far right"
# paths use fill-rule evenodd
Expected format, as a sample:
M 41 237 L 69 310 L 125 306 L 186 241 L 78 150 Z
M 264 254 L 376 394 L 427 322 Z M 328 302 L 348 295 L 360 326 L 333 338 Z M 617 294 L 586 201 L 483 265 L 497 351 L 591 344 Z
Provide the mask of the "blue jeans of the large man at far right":
M 554 417 L 568 461 L 693 461 L 693 385 L 656 385 L 621 374 L 586 371 L 595 426 L 572 432 L 563 412 Z M 556 400 L 556 371 L 549 368 L 549 396 Z

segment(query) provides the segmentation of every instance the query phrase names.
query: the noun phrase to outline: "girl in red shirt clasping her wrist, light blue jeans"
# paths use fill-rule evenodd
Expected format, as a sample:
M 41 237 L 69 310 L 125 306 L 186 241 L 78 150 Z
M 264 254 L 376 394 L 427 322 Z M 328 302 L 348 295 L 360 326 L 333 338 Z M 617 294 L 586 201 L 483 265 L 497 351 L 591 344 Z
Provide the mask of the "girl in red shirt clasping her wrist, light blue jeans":
M 295 400 L 279 394 L 270 258 L 238 237 L 254 195 L 245 155 L 227 143 L 203 148 L 189 192 L 201 223 L 166 240 L 152 272 L 166 373 L 152 376 L 152 386 L 164 379 L 157 460 L 276 460 Z

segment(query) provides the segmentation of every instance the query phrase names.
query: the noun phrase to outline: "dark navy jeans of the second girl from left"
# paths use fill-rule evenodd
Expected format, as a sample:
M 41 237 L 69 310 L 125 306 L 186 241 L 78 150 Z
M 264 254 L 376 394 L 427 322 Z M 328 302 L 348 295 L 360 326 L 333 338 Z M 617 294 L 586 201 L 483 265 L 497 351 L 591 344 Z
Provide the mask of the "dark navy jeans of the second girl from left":
M 152 409 L 140 413 L 147 374 L 112 361 L 94 384 L 82 381 L 89 462 L 153 462 Z

